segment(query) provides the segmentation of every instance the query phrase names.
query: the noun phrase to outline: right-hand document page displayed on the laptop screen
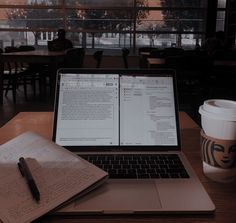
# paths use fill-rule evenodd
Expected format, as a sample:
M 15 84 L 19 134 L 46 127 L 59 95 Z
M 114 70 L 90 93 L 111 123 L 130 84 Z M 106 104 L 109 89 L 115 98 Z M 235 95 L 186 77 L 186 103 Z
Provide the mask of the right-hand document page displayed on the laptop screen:
M 177 145 L 171 77 L 121 76 L 120 144 Z

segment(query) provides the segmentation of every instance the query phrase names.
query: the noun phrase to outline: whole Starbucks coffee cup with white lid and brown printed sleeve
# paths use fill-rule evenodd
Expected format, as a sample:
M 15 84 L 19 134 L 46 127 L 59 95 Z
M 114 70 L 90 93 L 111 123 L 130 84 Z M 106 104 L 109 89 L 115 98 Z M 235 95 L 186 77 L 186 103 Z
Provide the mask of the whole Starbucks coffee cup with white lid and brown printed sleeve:
M 211 99 L 199 108 L 203 172 L 212 180 L 236 179 L 236 101 Z

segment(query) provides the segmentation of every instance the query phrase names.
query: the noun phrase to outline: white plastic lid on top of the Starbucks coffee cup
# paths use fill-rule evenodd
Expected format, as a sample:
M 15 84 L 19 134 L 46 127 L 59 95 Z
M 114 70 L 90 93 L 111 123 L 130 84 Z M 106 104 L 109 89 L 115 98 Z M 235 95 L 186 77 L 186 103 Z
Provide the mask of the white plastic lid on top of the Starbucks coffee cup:
M 236 101 L 210 99 L 200 106 L 199 113 L 209 118 L 236 121 Z

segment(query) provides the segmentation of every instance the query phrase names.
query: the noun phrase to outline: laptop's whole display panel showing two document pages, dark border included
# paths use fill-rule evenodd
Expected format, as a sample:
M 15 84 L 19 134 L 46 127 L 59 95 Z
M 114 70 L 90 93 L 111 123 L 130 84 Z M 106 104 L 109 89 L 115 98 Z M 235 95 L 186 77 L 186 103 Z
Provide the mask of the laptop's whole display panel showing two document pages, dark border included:
M 174 76 L 142 72 L 61 70 L 54 141 L 83 149 L 178 146 Z

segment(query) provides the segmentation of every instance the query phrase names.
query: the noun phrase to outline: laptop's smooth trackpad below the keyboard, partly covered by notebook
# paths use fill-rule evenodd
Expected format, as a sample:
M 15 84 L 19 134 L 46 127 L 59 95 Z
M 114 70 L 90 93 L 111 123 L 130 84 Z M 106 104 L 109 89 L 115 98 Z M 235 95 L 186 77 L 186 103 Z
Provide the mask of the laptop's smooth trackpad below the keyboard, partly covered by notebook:
M 77 212 L 133 213 L 161 208 L 154 181 L 109 180 L 74 203 Z

